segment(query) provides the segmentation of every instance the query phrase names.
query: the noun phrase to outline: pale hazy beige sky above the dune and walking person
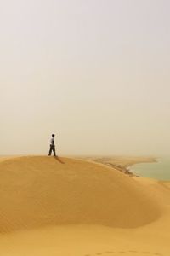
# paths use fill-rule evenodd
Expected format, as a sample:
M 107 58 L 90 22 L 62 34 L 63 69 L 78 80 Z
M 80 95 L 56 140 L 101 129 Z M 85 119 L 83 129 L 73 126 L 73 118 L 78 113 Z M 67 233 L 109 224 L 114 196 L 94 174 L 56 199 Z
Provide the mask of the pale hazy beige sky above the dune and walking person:
M 2 0 L 0 154 L 170 154 L 169 0 Z

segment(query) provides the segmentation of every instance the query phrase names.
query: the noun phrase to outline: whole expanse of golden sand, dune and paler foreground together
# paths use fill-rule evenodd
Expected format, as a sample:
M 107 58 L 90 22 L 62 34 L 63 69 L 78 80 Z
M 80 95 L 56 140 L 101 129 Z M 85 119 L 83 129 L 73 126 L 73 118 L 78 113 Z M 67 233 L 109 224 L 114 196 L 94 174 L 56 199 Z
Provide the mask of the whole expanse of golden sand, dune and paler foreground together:
M 2 256 L 170 255 L 170 182 L 101 161 L 10 157 L 0 199 Z

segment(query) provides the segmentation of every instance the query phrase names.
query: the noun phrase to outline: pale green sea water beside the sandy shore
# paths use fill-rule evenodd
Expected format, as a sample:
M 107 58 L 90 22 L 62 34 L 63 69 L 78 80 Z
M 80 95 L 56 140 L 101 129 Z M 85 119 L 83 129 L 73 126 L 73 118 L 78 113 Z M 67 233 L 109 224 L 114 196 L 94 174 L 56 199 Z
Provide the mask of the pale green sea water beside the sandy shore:
M 170 157 L 159 158 L 153 163 L 136 164 L 130 170 L 139 177 L 150 177 L 170 181 Z

